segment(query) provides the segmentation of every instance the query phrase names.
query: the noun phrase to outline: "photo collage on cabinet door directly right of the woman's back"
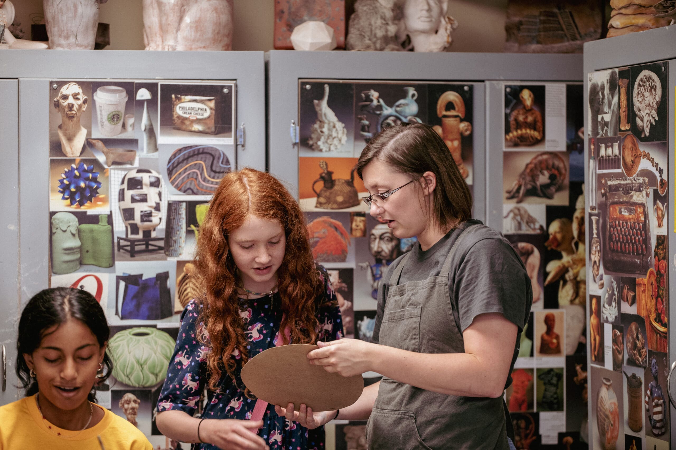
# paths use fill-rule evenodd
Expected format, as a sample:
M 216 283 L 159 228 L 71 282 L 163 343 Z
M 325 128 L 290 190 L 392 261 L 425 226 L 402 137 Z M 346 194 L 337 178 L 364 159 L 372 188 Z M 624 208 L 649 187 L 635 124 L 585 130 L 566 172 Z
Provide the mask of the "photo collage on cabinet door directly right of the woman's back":
M 577 445 L 587 426 L 583 85 L 506 82 L 503 94 L 502 233 L 533 288 L 505 391 L 514 444 Z

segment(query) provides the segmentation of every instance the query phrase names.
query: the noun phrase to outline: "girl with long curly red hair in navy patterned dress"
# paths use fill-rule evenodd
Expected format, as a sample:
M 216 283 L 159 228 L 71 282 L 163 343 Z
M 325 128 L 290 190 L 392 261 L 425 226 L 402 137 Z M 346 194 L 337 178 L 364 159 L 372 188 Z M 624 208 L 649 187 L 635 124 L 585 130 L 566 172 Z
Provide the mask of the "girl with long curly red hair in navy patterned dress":
M 200 227 L 195 267 L 203 295 L 181 316 L 158 400 L 162 434 L 197 449 L 322 447 L 323 428 L 308 431 L 278 416 L 274 405 L 262 420 L 250 420 L 256 397 L 240 377 L 277 339 L 316 343 L 343 335 L 335 293 L 312 258 L 291 194 L 268 173 L 228 173 Z M 206 405 L 195 418 L 203 389 Z

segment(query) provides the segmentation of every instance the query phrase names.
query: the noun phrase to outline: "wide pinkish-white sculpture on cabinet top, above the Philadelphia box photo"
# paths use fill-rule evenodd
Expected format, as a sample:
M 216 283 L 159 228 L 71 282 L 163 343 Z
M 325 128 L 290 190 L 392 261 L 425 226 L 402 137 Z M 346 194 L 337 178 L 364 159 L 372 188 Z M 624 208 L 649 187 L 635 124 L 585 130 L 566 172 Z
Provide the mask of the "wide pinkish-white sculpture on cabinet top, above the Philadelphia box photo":
M 143 0 L 146 50 L 231 50 L 233 0 Z

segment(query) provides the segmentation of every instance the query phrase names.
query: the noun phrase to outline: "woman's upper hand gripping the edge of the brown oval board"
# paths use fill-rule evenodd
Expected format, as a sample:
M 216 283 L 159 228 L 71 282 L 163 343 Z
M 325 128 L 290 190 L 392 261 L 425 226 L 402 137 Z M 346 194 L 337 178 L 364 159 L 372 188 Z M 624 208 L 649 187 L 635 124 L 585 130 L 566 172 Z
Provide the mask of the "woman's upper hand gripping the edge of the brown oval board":
M 377 351 L 377 344 L 359 339 L 338 339 L 318 342 L 317 345 L 320 348 L 308 353 L 310 364 L 324 366 L 327 372 L 353 376 L 373 370 L 373 355 Z

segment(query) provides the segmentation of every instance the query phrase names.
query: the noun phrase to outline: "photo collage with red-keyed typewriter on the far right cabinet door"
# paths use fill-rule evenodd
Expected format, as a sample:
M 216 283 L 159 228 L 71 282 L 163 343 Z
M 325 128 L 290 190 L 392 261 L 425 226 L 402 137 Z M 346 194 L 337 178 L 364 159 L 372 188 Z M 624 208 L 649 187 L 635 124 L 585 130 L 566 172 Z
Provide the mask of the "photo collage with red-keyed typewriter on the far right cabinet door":
M 587 76 L 589 445 L 668 449 L 669 65 Z

